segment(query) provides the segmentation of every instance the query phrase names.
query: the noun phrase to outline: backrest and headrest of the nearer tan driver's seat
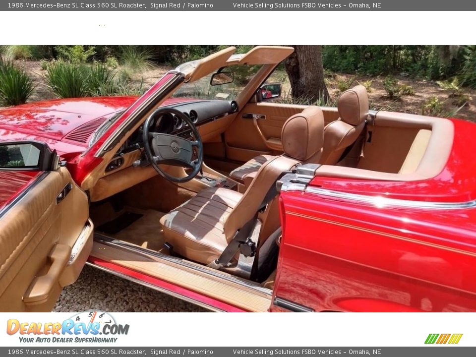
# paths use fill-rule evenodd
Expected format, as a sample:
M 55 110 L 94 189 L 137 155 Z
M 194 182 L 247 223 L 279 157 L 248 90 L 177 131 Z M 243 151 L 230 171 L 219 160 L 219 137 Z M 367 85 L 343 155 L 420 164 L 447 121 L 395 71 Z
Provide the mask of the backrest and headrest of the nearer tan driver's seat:
M 308 107 L 283 125 L 284 154 L 265 162 L 225 222 L 224 233 L 230 242 L 236 232 L 260 208 L 269 189 L 285 171 L 309 158 L 318 158 L 324 143 L 324 115 L 319 107 Z

